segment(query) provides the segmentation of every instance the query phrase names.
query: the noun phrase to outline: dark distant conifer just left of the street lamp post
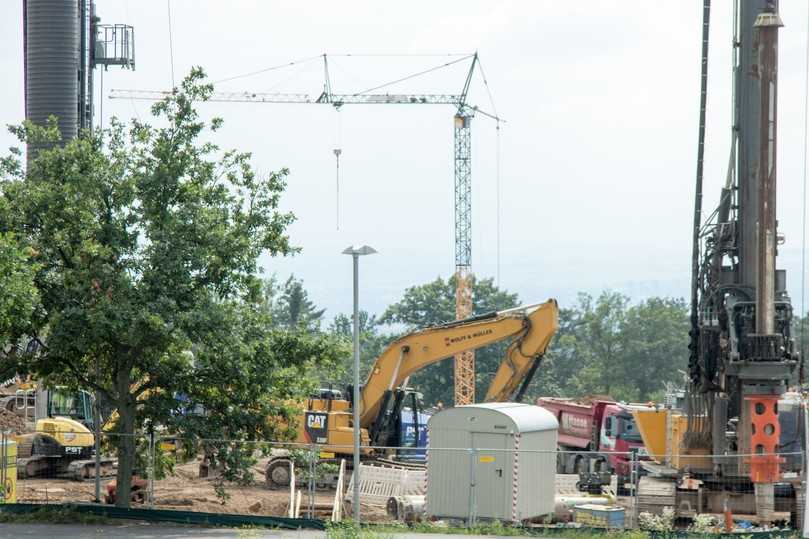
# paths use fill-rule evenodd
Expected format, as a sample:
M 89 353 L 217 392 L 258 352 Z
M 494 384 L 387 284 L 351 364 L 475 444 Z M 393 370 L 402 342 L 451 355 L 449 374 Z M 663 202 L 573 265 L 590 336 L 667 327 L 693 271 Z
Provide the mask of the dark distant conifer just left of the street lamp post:
M 264 303 L 272 314 L 272 323 L 287 329 L 318 331 L 326 309 L 318 309 L 309 299 L 303 280 L 290 275 L 283 284 L 275 276 L 264 281 Z

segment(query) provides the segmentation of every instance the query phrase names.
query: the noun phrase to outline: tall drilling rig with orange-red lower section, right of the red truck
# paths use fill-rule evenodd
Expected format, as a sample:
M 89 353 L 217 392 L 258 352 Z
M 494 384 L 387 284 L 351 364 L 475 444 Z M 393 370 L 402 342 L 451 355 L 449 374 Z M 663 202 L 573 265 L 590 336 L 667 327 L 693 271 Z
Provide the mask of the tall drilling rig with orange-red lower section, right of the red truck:
M 785 271 L 776 269 L 783 243 L 776 219 L 783 24 L 768 0 L 737 0 L 734 15 L 729 171 L 718 207 L 703 222 L 705 0 L 688 385 L 683 410 L 638 414 L 647 448 L 659 453 L 644 463 L 638 503 L 642 511 L 674 507 L 678 517 L 729 510 L 769 523 L 789 519 L 800 488 L 800 459 L 778 455 L 788 408 L 779 418 L 779 402 L 802 371 Z

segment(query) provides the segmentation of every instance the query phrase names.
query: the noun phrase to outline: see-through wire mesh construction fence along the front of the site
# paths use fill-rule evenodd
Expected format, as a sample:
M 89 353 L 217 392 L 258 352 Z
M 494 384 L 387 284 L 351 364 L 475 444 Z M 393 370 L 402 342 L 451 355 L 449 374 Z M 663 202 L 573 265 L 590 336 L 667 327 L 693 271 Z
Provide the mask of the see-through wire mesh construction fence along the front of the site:
M 0 434 L 6 502 L 115 502 L 120 435 L 102 433 L 92 447 L 65 454 L 43 441 L 53 433 L 40 434 L 21 443 Z M 133 442 L 134 507 L 339 521 L 352 518 L 358 475 L 361 519 L 369 523 L 701 532 L 803 525 L 803 453 L 767 455 L 777 458 L 780 477 L 757 485 L 748 468 L 762 455 L 364 448 L 356 474 L 351 457 L 333 446 L 200 440 L 189 450 L 155 434 Z

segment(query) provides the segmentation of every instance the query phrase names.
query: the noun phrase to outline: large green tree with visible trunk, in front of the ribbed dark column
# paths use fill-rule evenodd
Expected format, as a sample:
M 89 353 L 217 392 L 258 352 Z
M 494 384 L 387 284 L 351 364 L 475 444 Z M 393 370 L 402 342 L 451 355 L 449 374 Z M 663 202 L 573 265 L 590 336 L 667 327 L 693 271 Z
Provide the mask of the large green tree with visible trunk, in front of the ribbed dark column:
M 204 396 L 213 380 L 219 388 L 239 384 L 241 373 L 228 370 L 234 357 L 239 367 L 291 363 L 290 374 L 300 362 L 295 346 L 269 349 L 280 336 L 235 324 L 236 306 L 258 289 L 259 255 L 294 251 L 286 234 L 293 216 L 278 210 L 286 170 L 259 178 L 249 154 L 200 142 L 222 123 L 202 121 L 194 107 L 212 90 L 194 69 L 153 106 L 159 127 L 113 120 L 104 133 L 38 151 L 25 173 L 19 152 L 0 170 L 9 210 L 0 230 L 25 238 L 38 265 L 37 329 L 46 346 L 26 366 L 47 383 L 95 390 L 118 410 L 124 506 L 132 434 L 145 419 L 139 404 L 165 416 L 177 392 Z M 23 142 L 59 139 L 54 121 L 14 132 Z M 244 342 L 225 339 L 235 330 Z M 209 394 L 200 400 L 214 406 L 218 395 Z M 251 409 L 231 412 L 238 418 Z

